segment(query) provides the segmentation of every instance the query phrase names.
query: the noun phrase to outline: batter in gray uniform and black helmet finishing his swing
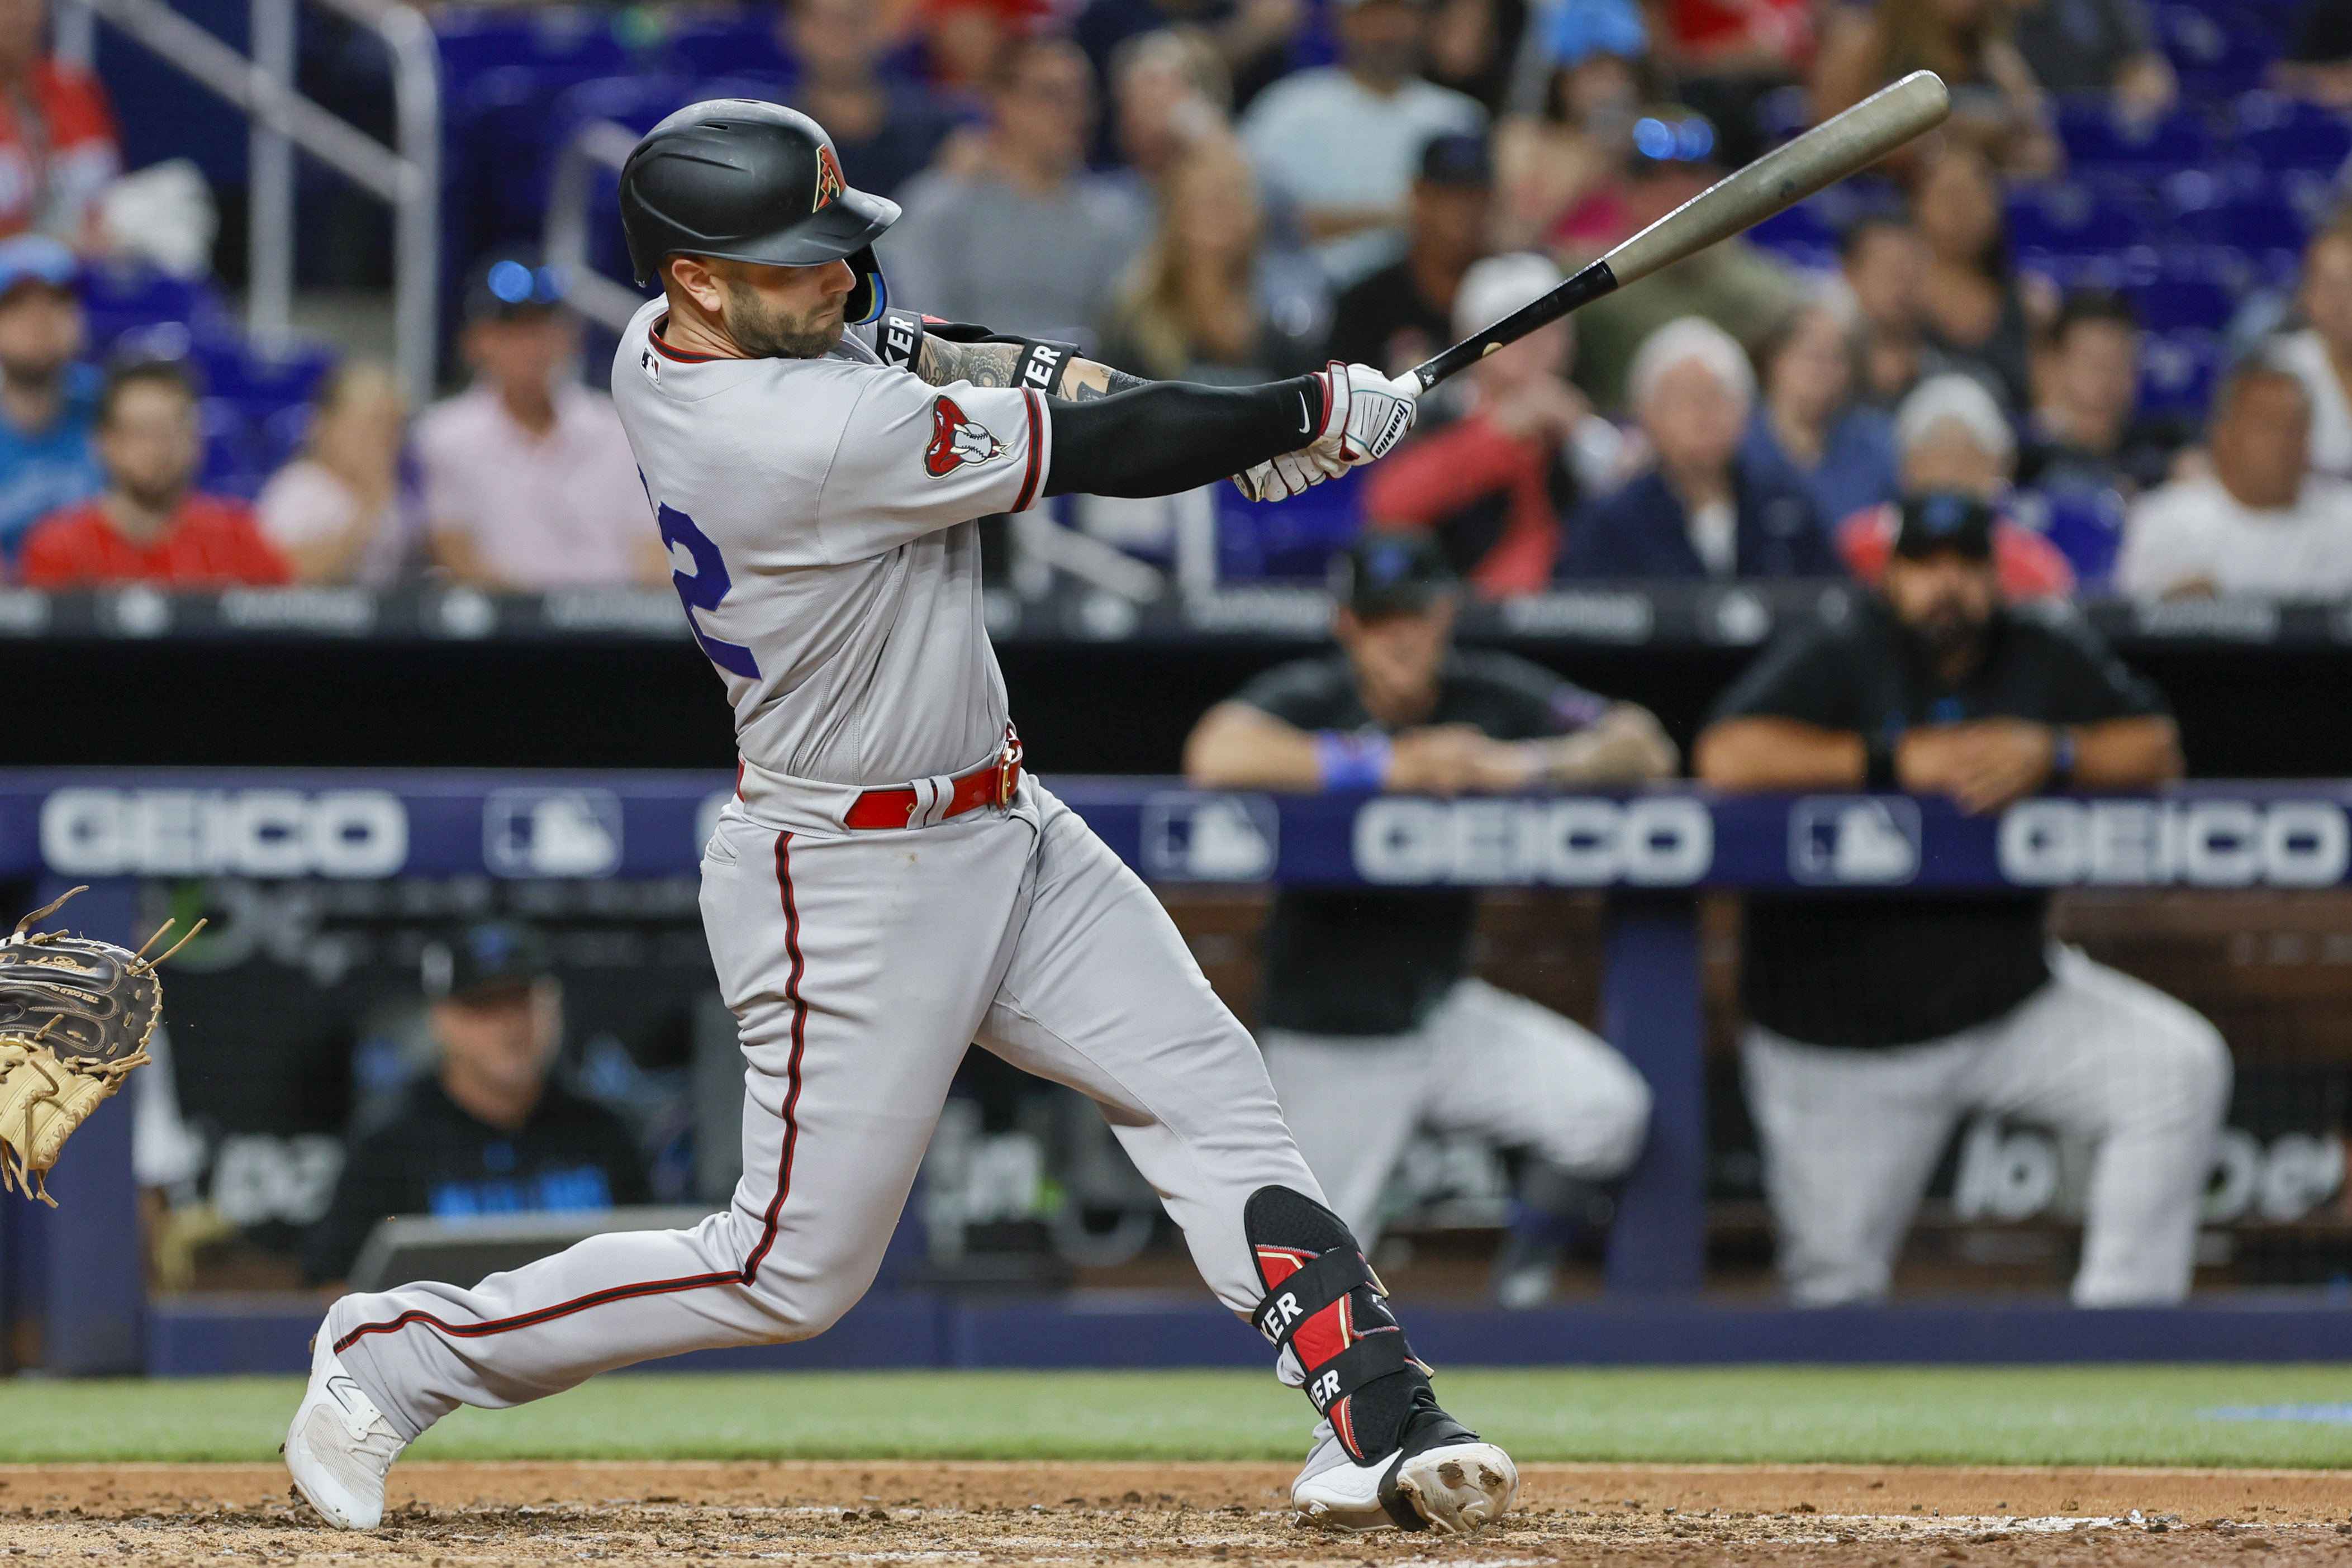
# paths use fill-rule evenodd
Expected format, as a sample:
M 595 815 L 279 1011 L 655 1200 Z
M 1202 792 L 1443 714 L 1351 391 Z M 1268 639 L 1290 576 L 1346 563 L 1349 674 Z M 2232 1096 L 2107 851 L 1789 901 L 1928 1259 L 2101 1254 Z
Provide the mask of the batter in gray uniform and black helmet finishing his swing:
M 1101 1103 L 1209 1288 L 1277 1345 L 1322 1415 L 1301 1514 L 1501 1516 L 1517 1469 L 1437 1406 L 1249 1034 L 1150 889 L 1023 773 L 981 621 L 976 517 L 1223 475 L 1282 498 L 1385 454 L 1409 390 L 1359 364 L 1145 386 L 887 313 L 873 240 L 898 209 L 774 103 L 656 125 L 621 216 L 663 296 L 621 334 L 614 400 L 736 710 L 703 926 L 746 1056 L 743 1180 L 694 1229 L 339 1300 L 287 1432 L 294 1483 L 372 1528 L 393 1458 L 461 1403 L 823 1333 L 873 1281 L 981 1041 Z

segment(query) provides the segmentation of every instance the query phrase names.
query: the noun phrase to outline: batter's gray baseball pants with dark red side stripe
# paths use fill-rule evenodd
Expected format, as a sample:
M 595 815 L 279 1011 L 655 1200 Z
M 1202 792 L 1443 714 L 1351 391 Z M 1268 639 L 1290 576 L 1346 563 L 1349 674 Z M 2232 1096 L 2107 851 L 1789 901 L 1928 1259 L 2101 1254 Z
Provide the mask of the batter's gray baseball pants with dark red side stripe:
M 339 1300 L 325 1331 L 402 1436 L 461 1403 L 823 1333 L 873 1284 L 971 1041 L 1091 1095 L 1216 1298 L 1258 1302 L 1242 1204 L 1322 1190 L 1160 900 L 1035 778 L 1011 809 L 913 830 L 844 830 L 854 797 L 769 778 L 703 853 L 703 929 L 746 1058 L 729 1208 L 590 1237 L 470 1291 Z

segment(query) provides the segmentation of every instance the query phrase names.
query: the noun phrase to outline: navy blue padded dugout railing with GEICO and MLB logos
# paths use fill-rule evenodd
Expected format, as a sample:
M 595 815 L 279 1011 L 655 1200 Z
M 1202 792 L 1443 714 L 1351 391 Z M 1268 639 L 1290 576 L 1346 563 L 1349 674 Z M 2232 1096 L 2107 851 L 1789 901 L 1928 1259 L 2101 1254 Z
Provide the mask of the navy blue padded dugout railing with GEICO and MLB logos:
M 1985 818 L 1943 799 L 1693 788 L 1439 802 L 1197 792 L 1150 778 L 1051 783 L 1178 903 L 1188 891 L 1279 884 L 1562 889 L 1602 900 L 1597 1023 L 1656 1093 L 1649 1145 L 1609 1237 L 1606 1298 L 1536 1314 L 1416 1314 L 1432 1321 L 1430 1354 L 1456 1342 L 1489 1361 L 2352 1354 L 2352 1312 L 2328 1288 L 2201 1300 L 2171 1314 L 2070 1314 L 2046 1302 L 1790 1314 L 1698 1298 L 1710 1218 L 1705 898 L 1757 889 L 2340 889 L 2352 877 L 2352 783 L 2037 797 Z M 729 788 L 717 773 L 14 771 L 0 773 L 0 877 L 31 884 L 38 903 L 92 884 L 73 919 L 99 936 L 129 936 L 141 886 L 202 877 L 325 889 L 487 879 L 581 886 L 593 900 L 600 886 L 689 886 Z M 2352 940 L 2336 947 L 2336 961 L 2352 961 Z M 287 1335 L 308 1333 L 315 1307 L 280 1302 L 275 1316 L 165 1309 L 151 1321 L 129 1140 L 125 1095 L 52 1175 L 56 1211 L 5 1208 L 0 1279 L 21 1276 L 35 1253 L 45 1260 L 40 1300 L 16 1302 L 19 1316 L 42 1319 L 42 1363 L 96 1373 L 158 1359 L 181 1371 L 282 1359 Z M 1136 1305 L 1117 1319 L 1094 1302 L 1094 1338 L 1056 1328 L 1044 1307 L 898 1300 L 861 1312 L 849 1333 L 807 1354 L 840 1363 L 863 1345 L 884 1359 L 969 1361 L 1030 1347 L 1049 1361 L 1124 1359 L 1145 1340 L 1152 1359 L 1247 1349 L 1221 1338 L 1207 1305 Z M 1136 1340 L 1138 1312 L 1164 1312 L 1174 1328 Z M 245 1342 L 261 1349 L 238 1349 Z

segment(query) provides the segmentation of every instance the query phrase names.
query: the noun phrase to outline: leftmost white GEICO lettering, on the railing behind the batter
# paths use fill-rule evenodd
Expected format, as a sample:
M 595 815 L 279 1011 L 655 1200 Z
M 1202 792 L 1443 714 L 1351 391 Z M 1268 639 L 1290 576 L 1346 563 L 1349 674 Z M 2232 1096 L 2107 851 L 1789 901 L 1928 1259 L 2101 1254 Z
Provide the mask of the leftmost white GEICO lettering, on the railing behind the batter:
M 66 877 L 390 877 L 409 813 L 383 790 L 59 790 L 40 858 Z

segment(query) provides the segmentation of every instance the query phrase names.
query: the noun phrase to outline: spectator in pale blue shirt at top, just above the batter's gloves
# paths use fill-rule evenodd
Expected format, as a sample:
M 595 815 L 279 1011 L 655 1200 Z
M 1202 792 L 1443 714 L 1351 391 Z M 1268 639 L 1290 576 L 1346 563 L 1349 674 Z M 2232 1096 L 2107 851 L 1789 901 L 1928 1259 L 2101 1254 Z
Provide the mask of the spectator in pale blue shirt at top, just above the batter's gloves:
M 1446 132 L 1484 134 L 1486 110 L 1414 75 L 1428 28 L 1421 0 L 1341 0 L 1331 26 L 1338 63 L 1261 92 L 1242 141 L 1265 183 L 1298 209 L 1324 273 L 1348 284 L 1397 254 L 1421 148 Z

